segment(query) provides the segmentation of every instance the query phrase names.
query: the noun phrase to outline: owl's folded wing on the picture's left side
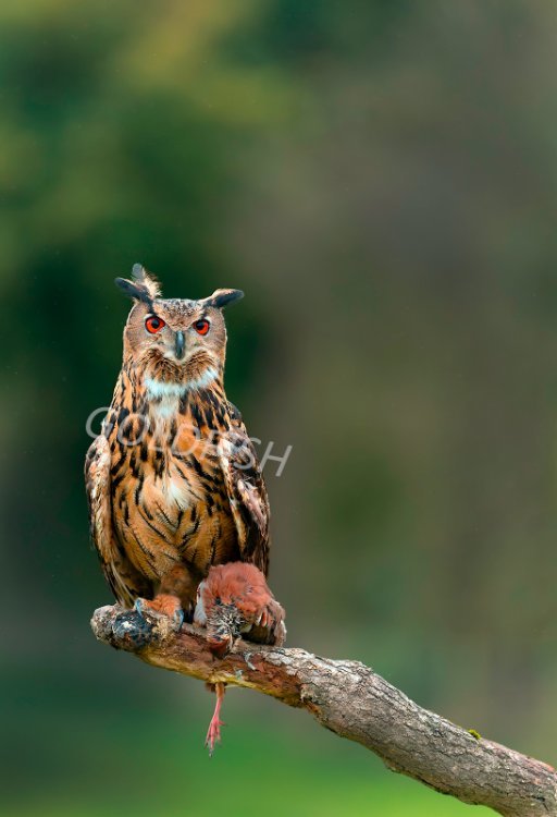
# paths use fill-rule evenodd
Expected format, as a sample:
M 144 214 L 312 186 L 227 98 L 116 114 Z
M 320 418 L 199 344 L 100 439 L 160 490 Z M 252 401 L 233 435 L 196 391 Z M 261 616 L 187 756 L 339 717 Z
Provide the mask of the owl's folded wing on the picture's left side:
M 112 522 L 110 468 L 110 444 L 101 435 L 89 448 L 85 460 L 90 535 L 112 593 L 120 603 L 133 607 L 136 598 L 146 595 L 149 588 L 116 538 Z

